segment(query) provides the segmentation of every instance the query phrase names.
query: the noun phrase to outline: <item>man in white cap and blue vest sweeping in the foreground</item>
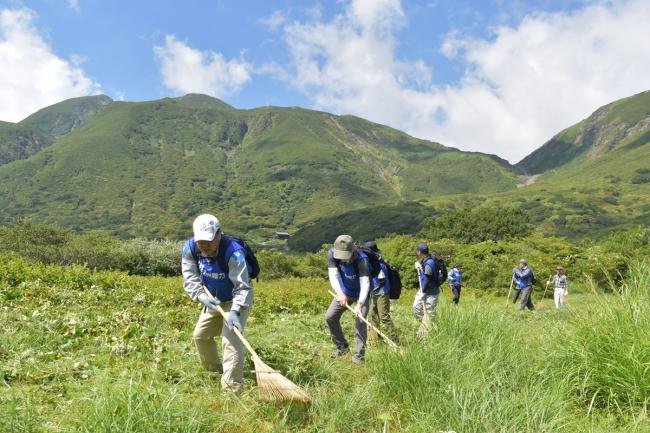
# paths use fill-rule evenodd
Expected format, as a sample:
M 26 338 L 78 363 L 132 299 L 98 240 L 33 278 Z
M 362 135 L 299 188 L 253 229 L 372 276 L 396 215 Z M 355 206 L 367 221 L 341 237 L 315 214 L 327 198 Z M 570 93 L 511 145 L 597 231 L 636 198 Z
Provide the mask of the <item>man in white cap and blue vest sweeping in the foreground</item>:
M 193 301 L 203 304 L 194 327 L 194 344 L 203 368 L 223 373 L 222 389 L 239 392 L 244 385 L 244 347 L 233 329 L 244 332 L 253 307 L 253 284 L 245 250 L 222 233 L 219 220 L 213 215 L 199 215 L 193 231 L 194 237 L 183 246 L 181 267 L 185 291 Z M 204 286 L 212 296 L 205 293 Z M 226 321 L 217 305 L 228 312 Z M 223 364 L 215 341 L 218 335 Z

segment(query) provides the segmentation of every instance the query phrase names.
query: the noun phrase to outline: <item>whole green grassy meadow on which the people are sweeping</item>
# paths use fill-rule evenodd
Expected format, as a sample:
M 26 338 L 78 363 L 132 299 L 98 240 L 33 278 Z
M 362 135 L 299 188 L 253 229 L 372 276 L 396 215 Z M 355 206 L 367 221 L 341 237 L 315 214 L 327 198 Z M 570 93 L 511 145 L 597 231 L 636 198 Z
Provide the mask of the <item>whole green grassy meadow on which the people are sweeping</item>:
M 312 396 L 300 407 L 258 401 L 252 372 L 243 394 L 221 392 L 195 353 L 200 307 L 179 277 L 1 257 L 2 432 L 650 431 L 647 262 L 607 294 L 571 287 L 559 313 L 539 289 L 524 314 L 472 287 L 454 307 L 445 290 L 424 339 L 405 290 L 403 351 L 373 343 L 363 366 L 329 358 L 325 279 L 261 281 L 246 334 Z

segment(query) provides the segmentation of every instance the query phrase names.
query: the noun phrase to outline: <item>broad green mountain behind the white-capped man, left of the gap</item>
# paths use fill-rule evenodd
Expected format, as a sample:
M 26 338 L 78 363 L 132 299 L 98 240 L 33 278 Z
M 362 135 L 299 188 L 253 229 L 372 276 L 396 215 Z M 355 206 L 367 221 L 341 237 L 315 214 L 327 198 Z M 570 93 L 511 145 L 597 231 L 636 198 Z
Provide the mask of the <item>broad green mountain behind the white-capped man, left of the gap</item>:
M 25 119 L 58 139 L 0 166 L 0 224 L 29 216 L 79 231 L 182 237 L 210 211 L 227 230 L 260 239 L 368 206 L 521 182 L 495 156 L 353 116 L 237 110 L 203 95 L 109 102 L 64 101 Z

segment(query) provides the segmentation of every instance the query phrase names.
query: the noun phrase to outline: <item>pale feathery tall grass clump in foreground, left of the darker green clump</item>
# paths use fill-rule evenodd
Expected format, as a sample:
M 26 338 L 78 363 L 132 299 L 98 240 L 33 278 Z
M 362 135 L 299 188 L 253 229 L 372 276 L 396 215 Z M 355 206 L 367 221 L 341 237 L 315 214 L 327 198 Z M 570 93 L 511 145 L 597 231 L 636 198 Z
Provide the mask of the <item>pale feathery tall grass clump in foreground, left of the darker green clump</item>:
M 370 364 L 377 398 L 413 432 L 561 431 L 565 387 L 545 374 L 530 333 L 527 319 L 483 303 L 443 309 L 426 339 Z

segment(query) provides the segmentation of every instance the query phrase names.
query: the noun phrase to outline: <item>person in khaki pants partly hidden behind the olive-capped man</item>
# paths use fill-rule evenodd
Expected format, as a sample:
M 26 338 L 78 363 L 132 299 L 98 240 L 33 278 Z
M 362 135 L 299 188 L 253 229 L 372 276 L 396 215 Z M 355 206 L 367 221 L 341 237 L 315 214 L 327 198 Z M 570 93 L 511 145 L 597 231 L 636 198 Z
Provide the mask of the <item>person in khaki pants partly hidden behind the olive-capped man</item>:
M 397 333 L 393 325 L 393 319 L 390 314 L 390 281 L 388 279 L 388 265 L 381 258 L 381 251 L 377 247 L 377 242 L 366 242 L 363 246 L 380 255 L 379 273 L 372 278 L 370 292 L 369 321 L 377 328 L 381 329 L 393 341 L 397 341 Z M 372 273 L 372 272 L 371 272 Z M 374 331 L 371 335 L 374 334 Z

